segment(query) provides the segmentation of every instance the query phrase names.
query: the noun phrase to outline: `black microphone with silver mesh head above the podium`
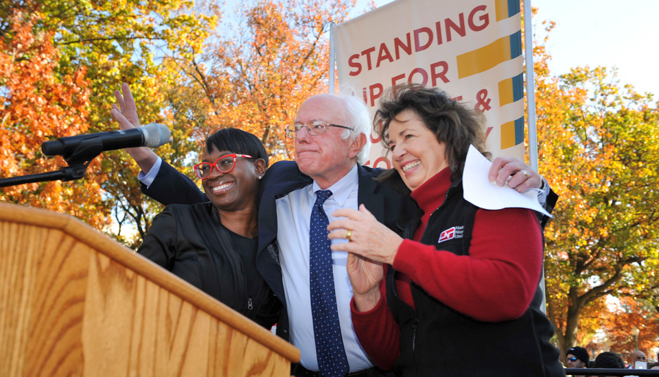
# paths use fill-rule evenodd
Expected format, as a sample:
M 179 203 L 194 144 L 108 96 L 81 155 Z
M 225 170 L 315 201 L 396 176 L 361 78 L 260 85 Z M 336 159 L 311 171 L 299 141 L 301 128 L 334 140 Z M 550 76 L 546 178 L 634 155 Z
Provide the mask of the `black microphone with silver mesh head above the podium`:
M 58 138 L 41 143 L 41 151 L 46 156 L 70 156 L 80 143 L 100 143 L 102 151 L 132 147 L 157 148 L 170 142 L 170 129 L 160 123 L 149 123 L 132 130 L 95 132 Z M 100 152 L 98 152 L 100 153 Z

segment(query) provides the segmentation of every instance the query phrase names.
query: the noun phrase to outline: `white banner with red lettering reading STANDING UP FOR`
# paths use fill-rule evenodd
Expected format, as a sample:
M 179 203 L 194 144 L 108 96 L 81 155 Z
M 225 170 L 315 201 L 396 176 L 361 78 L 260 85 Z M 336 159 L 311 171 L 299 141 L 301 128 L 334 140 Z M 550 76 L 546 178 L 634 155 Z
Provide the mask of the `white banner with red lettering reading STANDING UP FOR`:
M 485 114 L 487 150 L 524 158 L 518 0 L 397 0 L 333 28 L 338 82 L 371 115 L 386 88 L 437 86 Z M 380 139 L 367 165 L 391 167 Z

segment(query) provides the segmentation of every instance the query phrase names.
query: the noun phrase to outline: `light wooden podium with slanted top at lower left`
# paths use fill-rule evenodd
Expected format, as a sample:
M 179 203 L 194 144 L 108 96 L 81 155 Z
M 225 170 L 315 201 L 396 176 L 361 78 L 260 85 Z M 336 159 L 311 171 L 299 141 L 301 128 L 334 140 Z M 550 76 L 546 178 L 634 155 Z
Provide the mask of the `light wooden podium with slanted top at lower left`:
M 299 358 L 82 221 L 0 204 L 0 376 L 290 376 Z

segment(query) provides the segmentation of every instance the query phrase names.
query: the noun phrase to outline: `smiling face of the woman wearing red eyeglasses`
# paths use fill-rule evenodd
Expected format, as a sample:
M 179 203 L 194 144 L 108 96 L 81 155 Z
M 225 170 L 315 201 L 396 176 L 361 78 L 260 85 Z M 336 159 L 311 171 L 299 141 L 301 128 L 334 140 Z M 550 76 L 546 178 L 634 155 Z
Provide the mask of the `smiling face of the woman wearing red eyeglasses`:
M 232 151 L 218 151 L 213 148 L 210 153 L 204 149 L 203 162 L 214 163 L 218 158 Z M 259 175 L 265 171 L 263 160 L 236 158 L 235 167 L 229 173 L 220 173 L 213 167 L 209 177 L 202 181 L 204 192 L 218 210 L 244 210 L 255 206 L 259 188 Z

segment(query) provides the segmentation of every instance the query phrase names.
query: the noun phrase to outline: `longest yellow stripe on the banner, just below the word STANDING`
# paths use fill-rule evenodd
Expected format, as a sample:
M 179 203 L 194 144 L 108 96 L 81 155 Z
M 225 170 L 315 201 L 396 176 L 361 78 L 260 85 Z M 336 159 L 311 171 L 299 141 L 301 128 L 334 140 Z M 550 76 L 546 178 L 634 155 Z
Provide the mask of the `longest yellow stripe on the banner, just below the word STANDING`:
M 469 77 L 510 60 L 510 36 L 495 40 L 485 47 L 463 53 L 456 57 L 458 78 Z

